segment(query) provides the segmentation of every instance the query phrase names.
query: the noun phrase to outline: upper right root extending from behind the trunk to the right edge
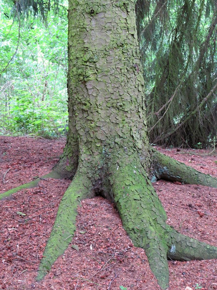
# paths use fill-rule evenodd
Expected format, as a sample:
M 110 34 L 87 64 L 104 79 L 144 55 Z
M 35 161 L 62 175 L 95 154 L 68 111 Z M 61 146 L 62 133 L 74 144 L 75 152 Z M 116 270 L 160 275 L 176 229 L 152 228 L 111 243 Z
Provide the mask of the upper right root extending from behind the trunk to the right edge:
M 201 184 L 217 188 L 217 178 L 201 173 L 190 166 L 152 149 L 153 178 L 179 181 L 185 184 Z

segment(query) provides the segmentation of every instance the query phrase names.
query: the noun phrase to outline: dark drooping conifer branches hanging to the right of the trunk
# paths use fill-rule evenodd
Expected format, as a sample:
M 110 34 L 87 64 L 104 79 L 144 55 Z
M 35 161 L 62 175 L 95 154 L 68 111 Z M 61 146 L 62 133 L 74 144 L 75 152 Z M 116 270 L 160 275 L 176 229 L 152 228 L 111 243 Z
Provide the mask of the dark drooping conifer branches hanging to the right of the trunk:
M 152 143 L 210 146 L 216 135 L 216 0 L 138 0 Z

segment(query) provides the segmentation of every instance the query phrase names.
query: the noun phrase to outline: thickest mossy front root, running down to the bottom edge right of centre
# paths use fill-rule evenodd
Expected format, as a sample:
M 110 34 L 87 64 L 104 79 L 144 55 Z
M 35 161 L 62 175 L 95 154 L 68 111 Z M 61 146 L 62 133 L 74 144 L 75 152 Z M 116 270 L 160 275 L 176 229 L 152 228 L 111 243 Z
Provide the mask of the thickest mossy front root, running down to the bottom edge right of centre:
M 169 283 L 167 262 L 170 227 L 166 213 L 137 156 L 113 166 L 110 183 L 124 229 L 134 245 L 146 251 L 150 268 L 162 289 Z

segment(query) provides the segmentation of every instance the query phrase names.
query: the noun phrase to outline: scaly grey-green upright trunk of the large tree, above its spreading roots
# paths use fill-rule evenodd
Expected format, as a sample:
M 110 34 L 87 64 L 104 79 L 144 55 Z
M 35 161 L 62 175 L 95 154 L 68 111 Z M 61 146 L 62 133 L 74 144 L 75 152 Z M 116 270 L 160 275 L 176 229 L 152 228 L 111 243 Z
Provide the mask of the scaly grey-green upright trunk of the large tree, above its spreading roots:
M 115 144 L 148 155 L 133 9 L 133 1 L 69 1 L 69 121 L 80 161 L 101 160 Z

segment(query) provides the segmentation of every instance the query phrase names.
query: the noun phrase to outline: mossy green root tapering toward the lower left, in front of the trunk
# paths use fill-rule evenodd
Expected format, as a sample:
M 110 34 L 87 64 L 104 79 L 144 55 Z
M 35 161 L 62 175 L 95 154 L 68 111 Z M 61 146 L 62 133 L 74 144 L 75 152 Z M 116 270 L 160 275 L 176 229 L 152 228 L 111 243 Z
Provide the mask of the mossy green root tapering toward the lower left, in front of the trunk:
M 39 265 L 37 281 L 42 280 L 56 259 L 67 249 L 76 230 L 80 200 L 93 197 L 91 180 L 77 171 L 60 202 L 56 220 Z

